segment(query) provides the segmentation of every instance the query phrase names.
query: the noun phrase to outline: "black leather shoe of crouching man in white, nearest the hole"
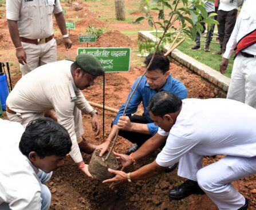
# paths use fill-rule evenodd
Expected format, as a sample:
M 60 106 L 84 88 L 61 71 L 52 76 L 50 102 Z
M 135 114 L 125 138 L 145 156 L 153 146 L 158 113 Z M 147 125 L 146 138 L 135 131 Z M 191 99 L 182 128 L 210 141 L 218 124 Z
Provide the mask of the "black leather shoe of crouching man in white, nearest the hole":
M 175 200 L 184 199 L 192 194 L 205 194 L 197 181 L 187 180 L 182 185 L 174 187 L 169 191 L 170 199 Z

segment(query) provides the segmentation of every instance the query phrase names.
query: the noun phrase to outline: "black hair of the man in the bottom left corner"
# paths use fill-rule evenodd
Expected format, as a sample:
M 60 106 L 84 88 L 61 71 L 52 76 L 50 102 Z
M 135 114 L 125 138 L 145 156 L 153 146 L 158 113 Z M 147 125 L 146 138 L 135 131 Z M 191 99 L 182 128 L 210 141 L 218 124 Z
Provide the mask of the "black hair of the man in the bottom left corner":
M 22 154 L 28 157 L 34 151 L 41 159 L 52 155 L 65 156 L 70 152 L 71 146 L 68 131 L 50 118 L 30 121 L 19 142 Z

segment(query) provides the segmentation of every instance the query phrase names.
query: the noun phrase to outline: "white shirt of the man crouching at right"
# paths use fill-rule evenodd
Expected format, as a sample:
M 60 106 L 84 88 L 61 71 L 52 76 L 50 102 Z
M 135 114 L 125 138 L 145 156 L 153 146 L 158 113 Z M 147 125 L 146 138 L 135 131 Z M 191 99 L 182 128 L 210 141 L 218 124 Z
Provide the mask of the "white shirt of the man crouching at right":
M 256 110 L 234 100 L 183 100 L 182 110 L 156 163 L 168 167 L 187 152 L 202 156 L 256 156 Z

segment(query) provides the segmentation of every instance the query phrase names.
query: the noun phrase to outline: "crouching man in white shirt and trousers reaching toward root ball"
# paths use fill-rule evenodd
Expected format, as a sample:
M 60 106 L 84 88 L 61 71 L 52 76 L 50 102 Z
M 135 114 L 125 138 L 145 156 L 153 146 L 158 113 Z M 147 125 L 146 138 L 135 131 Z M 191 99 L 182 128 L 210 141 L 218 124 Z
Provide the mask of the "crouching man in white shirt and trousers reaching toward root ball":
M 151 164 L 132 173 L 109 169 L 116 177 L 103 182 L 111 182 L 110 187 L 115 188 L 127 181 L 148 179 L 179 161 L 178 175 L 188 180 L 169 191 L 171 199 L 206 193 L 219 209 L 247 209 L 248 201 L 231 182 L 256 173 L 256 110 L 223 98 L 181 101 L 168 92 L 153 96 L 147 109 L 160 127 L 158 132 L 133 159 L 115 154 L 126 167 L 167 139 L 162 152 Z M 203 156 L 217 154 L 226 156 L 202 168 Z

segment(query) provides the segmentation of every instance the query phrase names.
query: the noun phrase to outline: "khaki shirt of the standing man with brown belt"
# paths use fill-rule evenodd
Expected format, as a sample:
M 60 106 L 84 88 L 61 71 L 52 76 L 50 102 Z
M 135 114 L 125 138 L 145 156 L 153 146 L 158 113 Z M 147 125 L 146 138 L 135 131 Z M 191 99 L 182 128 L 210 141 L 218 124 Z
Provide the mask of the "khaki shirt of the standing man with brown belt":
M 17 21 L 19 36 L 29 39 L 53 35 L 53 13 L 61 12 L 60 0 L 6 0 L 6 18 Z

